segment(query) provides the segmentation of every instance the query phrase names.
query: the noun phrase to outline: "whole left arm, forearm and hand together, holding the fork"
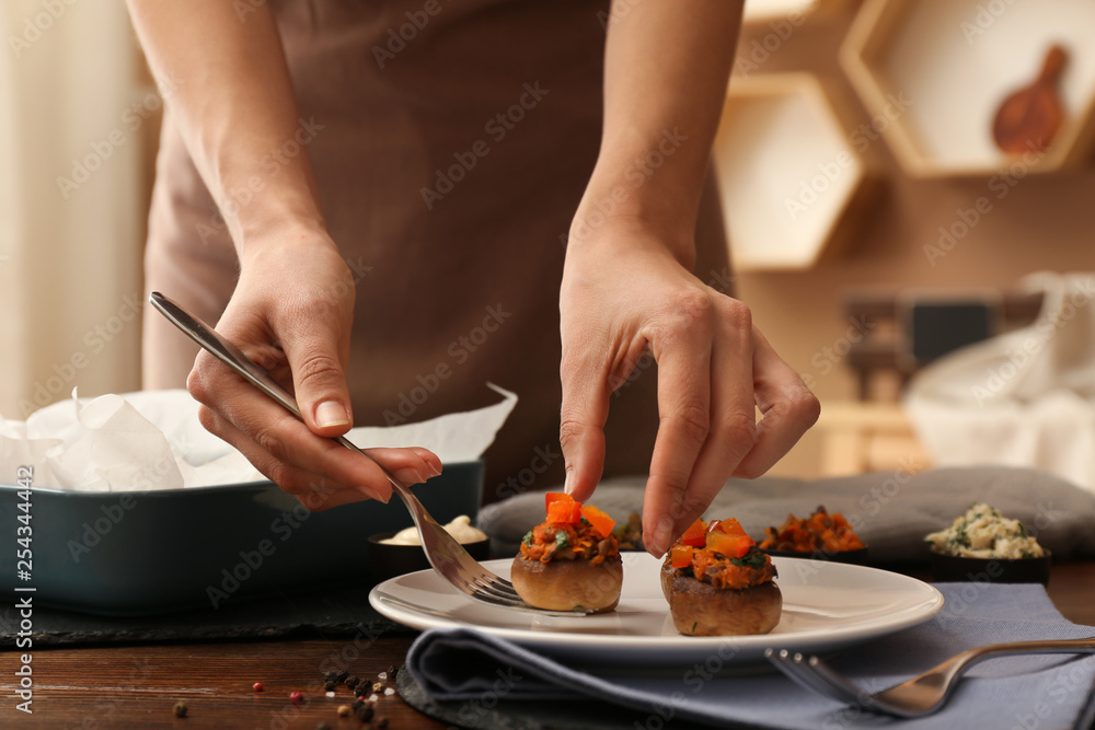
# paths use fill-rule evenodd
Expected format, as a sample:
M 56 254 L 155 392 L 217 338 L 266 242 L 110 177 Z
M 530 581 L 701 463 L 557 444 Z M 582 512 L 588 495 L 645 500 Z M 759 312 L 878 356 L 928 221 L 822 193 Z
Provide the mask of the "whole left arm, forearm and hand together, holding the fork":
M 239 253 L 240 280 L 217 329 L 292 391 L 304 417 L 297 420 L 203 352 L 187 379 L 205 406 L 201 424 L 309 509 L 367 497 L 387 501 L 391 487 L 381 470 L 330 438 L 353 421 L 345 371 L 354 280 L 322 223 L 269 3 L 249 4 L 246 22 L 223 0 L 128 4 L 155 77 L 180 78 L 169 100 L 171 123 Z M 299 153 L 278 157 L 270 173 L 264 160 L 290 142 Z M 234 194 L 243 189 L 254 192 L 245 205 Z M 369 455 L 407 484 L 441 471 L 425 449 Z

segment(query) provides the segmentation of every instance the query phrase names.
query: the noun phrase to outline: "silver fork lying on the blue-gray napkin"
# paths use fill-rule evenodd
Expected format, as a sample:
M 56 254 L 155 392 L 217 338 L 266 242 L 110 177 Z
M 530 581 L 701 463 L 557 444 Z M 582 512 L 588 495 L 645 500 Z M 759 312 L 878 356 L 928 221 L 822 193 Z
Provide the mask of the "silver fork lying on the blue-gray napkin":
M 781 672 L 807 690 L 864 709 L 896 717 L 920 717 L 935 712 L 950 696 L 966 670 L 995 657 L 1027 653 L 1095 653 L 1095 637 L 1057 641 L 1014 641 L 968 649 L 908 682 L 868 693 L 818 657 L 766 649 L 764 657 Z

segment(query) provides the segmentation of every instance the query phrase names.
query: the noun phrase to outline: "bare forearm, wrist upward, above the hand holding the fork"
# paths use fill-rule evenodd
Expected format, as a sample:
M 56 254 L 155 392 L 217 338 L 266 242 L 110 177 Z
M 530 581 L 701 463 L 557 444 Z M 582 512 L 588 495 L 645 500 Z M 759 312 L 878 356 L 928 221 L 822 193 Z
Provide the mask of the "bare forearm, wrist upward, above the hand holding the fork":
M 153 73 L 241 258 L 269 233 L 322 230 L 285 54 L 266 4 L 128 0 Z M 286 149 L 295 154 L 287 154 Z M 276 174 L 272 171 L 276 170 Z

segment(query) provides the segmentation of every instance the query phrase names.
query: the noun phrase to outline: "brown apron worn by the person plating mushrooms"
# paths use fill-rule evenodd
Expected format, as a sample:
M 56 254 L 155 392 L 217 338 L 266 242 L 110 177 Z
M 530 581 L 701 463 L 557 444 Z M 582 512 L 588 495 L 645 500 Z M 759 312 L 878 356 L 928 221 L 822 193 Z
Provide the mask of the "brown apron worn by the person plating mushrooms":
M 558 286 L 600 139 L 607 9 L 590 0 L 275 3 L 301 149 L 357 279 L 355 425 L 488 405 L 498 396 L 487 381 L 516 392 L 485 454 L 485 502 L 562 482 Z M 276 155 L 269 162 L 276 174 Z M 725 289 L 713 185 L 700 218 L 696 274 Z M 216 322 L 238 267 L 169 114 L 146 286 Z M 146 387 L 182 387 L 195 354 L 146 311 Z M 648 368 L 613 396 L 606 476 L 647 472 L 656 381 Z

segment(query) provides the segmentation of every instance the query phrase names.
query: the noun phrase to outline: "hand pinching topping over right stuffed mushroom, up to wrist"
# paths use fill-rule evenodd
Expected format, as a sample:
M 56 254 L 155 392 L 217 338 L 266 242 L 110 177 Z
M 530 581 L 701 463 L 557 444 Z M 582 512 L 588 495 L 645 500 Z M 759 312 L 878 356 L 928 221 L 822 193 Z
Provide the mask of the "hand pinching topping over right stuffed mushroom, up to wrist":
M 749 309 L 690 274 L 670 252 L 681 246 L 664 239 L 641 221 L 610 219 L 572 243 L 560 296 L 560 440 L 576 499 L 600 480 L 612 391 L 645 351 L 658 363 L 660 426 L 643 509 L 644 543 L 657 556 L 728 477 L 763 474 L 820 414 Z

